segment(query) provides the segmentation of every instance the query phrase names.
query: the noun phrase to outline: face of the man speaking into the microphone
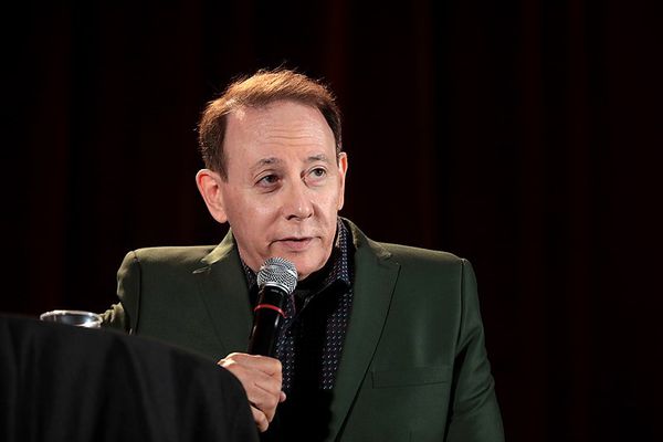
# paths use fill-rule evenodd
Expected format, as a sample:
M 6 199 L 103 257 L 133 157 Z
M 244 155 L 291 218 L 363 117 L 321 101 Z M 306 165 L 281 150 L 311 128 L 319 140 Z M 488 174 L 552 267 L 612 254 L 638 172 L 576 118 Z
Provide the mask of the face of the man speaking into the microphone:
M 222 211 L 240 255 L 254 271 L 273 256 L 299 278 L 332 253 L 343 207 L 347 158 L 337 161 L 334 134 L 320 112 L 282 101 L 229 115 Z

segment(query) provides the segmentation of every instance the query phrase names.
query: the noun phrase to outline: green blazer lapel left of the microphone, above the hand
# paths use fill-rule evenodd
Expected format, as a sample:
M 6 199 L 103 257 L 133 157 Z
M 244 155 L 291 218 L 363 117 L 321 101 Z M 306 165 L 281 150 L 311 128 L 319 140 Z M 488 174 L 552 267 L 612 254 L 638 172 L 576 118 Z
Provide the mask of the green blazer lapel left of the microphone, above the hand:
M 252 324 L 251 302 L 232 231 L 202 259 L 201 264 L 203 266 L 193 274 L 199 280 L 200 294 L 217 338 L 225 349 L 220 356 L 246 351 Z

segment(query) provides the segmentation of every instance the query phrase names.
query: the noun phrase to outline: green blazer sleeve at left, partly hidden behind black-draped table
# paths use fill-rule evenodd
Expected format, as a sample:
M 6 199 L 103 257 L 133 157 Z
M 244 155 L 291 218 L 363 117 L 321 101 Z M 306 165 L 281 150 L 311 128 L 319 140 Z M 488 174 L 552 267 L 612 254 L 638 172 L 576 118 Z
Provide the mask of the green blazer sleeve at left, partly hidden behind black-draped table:
M 103 326 L 135 333 L 140 298 L 140 263 L 136 252 L 127 253 L 117 271 L 117 297 L 119 303 L 102 314 Z

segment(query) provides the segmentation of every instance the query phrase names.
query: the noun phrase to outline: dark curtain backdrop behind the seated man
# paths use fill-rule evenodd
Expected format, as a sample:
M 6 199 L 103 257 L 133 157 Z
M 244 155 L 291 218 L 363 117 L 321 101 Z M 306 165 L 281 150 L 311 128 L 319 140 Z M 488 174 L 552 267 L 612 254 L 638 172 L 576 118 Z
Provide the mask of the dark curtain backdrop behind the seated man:
M 283 64 L 338 95 L 343 213 L 473 263 L 509 441 L 660 438 L 655 3 L 3 7 L 0 309 L 103 311 L 128 250 L 219 242 L 198 116 Z

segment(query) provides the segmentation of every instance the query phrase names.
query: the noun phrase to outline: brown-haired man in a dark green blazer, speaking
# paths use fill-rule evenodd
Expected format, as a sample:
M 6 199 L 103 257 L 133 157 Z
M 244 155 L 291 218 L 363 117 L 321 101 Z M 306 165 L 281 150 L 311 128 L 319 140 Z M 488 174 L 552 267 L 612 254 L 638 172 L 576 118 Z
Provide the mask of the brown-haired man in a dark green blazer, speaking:
M 218 246 L 130 252 L 109 326 L 207 355 L 244 387 L 271 440 L 501 441 L 470 264 L 381 244 L 338 217 L 347 155 L 322 84 L 260 71 L 200 122 Z M 284 257 L 297 288 L 277 358 L 246 355 L 255 274 Z

